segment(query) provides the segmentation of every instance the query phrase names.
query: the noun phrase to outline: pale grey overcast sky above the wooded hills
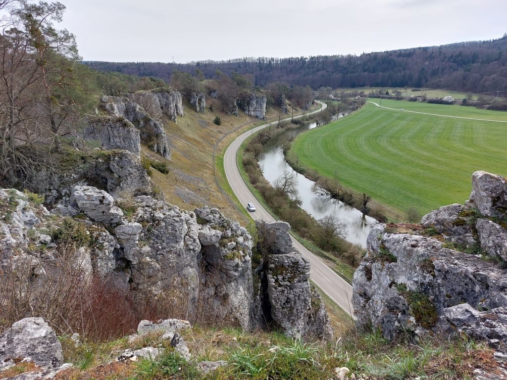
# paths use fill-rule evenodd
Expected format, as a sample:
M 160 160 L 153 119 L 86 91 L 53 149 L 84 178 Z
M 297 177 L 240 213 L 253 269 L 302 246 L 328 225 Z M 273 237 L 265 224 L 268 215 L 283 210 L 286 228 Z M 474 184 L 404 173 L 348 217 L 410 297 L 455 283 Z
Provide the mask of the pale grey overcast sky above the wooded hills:
M 85 60 L 360 54 L 507 32 L 507 0 L 60 0 Z

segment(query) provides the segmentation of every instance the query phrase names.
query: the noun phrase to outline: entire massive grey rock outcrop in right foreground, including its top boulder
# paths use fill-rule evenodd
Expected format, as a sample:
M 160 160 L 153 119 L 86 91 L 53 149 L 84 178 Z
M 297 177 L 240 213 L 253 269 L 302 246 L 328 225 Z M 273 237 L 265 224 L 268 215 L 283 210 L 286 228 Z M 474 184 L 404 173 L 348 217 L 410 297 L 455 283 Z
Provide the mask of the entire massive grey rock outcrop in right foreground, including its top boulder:
M 402 331 L 462 332 L 507 351 L 507 181 L 475 172 L 465 205 L 422 224 L 379 224 L 354 274 L 358 323 Z

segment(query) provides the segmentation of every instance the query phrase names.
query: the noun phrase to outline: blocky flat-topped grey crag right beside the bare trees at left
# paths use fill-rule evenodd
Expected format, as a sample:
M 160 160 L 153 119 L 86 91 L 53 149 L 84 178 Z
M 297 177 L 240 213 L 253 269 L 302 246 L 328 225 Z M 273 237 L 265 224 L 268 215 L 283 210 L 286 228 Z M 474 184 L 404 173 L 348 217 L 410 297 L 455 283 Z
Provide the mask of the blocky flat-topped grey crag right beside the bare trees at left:
M 139 130 L 132 123 L 117 116 L 88 116 L 83 139 L 97 141 L 104 149 L 125 149 L 139 157 Z

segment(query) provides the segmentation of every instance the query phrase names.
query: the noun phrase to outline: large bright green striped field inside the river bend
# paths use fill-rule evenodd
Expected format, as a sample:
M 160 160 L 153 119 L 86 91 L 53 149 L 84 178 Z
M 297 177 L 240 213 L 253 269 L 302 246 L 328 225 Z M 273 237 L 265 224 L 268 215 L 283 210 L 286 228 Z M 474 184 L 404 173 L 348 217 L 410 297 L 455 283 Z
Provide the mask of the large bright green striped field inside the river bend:
M 378 99 L 371 99 L 377 101 Z M 382 106 L 507 121 L 507 113 L 457 105 L 382 101 Z M 420 115 L 367 103 L 345 119 L 300 134 L 299 163 L 405 212 L 421 213 L 470 194 L 470 176 L 507 176 L 507 123 Z

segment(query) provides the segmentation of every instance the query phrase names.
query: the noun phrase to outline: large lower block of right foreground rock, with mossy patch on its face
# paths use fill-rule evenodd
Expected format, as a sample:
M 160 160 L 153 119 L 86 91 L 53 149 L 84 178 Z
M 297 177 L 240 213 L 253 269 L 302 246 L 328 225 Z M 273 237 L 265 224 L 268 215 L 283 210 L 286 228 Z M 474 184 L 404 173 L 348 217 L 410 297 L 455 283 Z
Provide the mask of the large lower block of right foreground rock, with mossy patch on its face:
M 368 253 L 354 273 L 352 304 L 359 325 L 370 323 L 392 339 L 400 329 L 423 334 L 445 308 L 507 306 L 507 271 L 439 240 L 386 233 L 376 225 Z

